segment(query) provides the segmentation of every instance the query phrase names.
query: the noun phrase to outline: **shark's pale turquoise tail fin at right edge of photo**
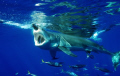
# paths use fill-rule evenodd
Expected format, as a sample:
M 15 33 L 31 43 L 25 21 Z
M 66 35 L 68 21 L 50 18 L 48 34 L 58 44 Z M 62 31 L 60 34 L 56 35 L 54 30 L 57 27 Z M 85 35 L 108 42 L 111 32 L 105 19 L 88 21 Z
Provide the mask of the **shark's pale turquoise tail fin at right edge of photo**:
M 120 51 L 113 53 L 112 62 L 113 62 L 114 70 L 116 71 L 116 68 L 118 67 L 120 62 Z

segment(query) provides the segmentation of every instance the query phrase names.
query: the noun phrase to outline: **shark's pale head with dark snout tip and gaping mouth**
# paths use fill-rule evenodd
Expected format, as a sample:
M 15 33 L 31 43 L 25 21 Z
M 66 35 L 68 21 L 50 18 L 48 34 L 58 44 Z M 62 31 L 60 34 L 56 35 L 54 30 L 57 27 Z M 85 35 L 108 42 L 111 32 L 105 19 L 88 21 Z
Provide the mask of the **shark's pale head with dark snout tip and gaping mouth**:
M 40 26 L 33 24 L 35 46 L 44 46 L 49 43 L 49 34 Z

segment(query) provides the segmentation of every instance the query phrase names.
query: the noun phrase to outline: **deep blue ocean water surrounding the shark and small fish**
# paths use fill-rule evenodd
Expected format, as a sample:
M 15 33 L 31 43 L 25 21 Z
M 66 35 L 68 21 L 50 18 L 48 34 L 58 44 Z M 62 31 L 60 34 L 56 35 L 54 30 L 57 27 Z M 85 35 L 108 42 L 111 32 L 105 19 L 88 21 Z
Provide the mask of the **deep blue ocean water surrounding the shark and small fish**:
M 72 15 L 74 12 L 75 15 Z M 28 71 L 34 74 L 33 76 L 68 76 L 61 72 L 62 69 L 73 71 L 78 76 L 119 76 L 120 66 L 114 71 L 109 55 L 92 53 L 95 58 L 87 59 L 83 51 L 74 52 L 78 57 L 58 52 L 59 59 L 51 60 L 49 51 L 35 46 L 30 27 L 32 23 L 44 26 L 46 23 L 57 25 L 60 23 L 60 18 L 57 17 L 60 16 L 60 21 L 63 19 L 61 24 L 65 24 L 68 18 L 71 22 L 79 20 L 80 18 L 76 17 L 78 15 L 86 16 L 85 20 L 89 17 L 93 19 L 92 23 L 86 22 L 89 22 L 88 25 L 99 25 L 97 31 L 113 25 L 109 31 L 102 32 L 98 38 L 94 38 L 94 41 L 111 52 L 120 51 L 119 0 L 0 0 L 0 20 L 5 21 L 0 23 L 0 76 L 27 76 Z M 63 66 L 49 66 L 42 63 L 42 59 L 63 62 Z M 85 64 L 86 67 L 79 70 L 69 68 L 69 65 L 75 64 Z M 106 74 L 96 70 L 95 65 L 107 68 L 112 73 Z

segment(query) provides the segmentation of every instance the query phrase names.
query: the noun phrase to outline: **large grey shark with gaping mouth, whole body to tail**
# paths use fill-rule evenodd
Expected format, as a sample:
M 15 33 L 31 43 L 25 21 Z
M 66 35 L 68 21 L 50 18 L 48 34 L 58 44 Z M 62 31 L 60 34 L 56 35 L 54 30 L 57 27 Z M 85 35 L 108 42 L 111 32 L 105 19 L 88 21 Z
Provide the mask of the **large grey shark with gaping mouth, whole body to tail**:
M 86 53 L 100 52 L 112 56 L 112 62 L 115 70 L 120 61 L 120 52 L 112 53 L 97 43 L 82 37 L 46 31 L 39 26 L 37 30 L 33 29 L 33 35 L 35 46 L 44 50 L 49 50 L 53 58 L 55 58 L 57 51 L 63 51 L 67 55 L 77 57 L 77 55 L 73 54 L 70 49 L 72 49 L 72 51 L 80 51 L 79 49 L 83 49 L 82 51 L 85 51 Z M 74 50 L 76 48 L 79 49 Z

